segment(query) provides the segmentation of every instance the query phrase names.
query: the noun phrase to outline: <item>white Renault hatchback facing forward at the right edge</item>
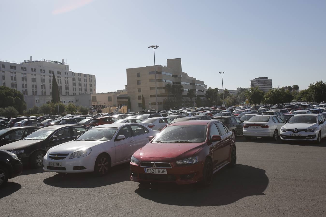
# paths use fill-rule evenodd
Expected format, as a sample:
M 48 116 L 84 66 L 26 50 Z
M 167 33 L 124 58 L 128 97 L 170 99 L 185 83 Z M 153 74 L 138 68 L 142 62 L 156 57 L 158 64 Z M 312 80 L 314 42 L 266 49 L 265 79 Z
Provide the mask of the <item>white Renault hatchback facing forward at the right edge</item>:
M 281 140 L 303 140 L 320 143 L 326 137 L 326 119 L 319 114 L 294 115 L 281 128 Z

